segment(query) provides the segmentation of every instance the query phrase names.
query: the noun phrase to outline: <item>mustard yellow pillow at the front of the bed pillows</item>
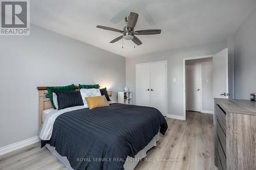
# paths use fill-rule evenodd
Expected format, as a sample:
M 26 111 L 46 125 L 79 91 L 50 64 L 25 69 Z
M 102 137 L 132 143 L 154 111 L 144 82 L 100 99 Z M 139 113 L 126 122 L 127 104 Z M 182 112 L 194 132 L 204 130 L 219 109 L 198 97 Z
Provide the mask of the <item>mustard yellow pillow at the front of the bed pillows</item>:
M 105 95 L 94 96 L 86 98 L 89 109 L 94 109 L 98 107 L 110 106 L 109 102 L 106 100 Z

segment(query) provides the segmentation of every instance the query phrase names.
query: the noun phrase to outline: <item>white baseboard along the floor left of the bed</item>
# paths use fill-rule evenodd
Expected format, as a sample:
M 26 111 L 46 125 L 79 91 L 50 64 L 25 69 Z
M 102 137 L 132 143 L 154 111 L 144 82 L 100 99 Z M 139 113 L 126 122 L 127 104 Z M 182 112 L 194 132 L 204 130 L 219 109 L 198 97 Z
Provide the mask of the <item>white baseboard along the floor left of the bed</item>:
M 0 148 L 0 156 L 4 155 L 4 154 L 7 154 L 9 152 L 18 150 L 20 148 L 27 147 L 28 145 L 34 144 L 34 143 L 39 142 L 39 141 L 40 141 L 39 137 L 35 136 L 35 137 L 31 137 L 31 138 L 26 139 L 26 140 L 22 140 L 22 141 L 13 143 L 13 144 L 9 144 L 5 147 Z

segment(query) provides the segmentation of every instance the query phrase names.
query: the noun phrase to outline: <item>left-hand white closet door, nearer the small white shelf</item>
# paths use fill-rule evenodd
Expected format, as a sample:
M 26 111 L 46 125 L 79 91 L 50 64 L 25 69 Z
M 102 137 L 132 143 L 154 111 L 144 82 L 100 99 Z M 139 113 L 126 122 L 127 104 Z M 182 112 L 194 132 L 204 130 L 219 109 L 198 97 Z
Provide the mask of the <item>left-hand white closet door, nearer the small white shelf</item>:
M 150 64 L 136 65 L 136 103 L 150 106 Z

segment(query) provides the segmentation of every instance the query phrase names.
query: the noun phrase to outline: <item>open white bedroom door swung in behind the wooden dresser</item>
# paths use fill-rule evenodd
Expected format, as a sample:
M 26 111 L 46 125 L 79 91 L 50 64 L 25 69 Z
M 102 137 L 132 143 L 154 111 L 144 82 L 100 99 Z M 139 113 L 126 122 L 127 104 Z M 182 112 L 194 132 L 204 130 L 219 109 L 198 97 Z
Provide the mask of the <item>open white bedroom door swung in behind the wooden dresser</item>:
M 214 67 L 214 98 L 228 99 L 228 48 L 212 57 Z

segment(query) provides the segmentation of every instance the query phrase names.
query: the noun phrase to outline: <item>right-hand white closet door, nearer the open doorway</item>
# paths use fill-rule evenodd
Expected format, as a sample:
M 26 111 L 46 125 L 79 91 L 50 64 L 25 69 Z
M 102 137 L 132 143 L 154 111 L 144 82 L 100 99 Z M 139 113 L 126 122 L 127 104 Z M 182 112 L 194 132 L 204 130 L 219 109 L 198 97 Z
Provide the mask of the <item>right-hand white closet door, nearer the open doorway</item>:
M 166 62 L 151 63 L 150 70 L 151 107 L 157 108 L 164 116 L 166 116 Z

